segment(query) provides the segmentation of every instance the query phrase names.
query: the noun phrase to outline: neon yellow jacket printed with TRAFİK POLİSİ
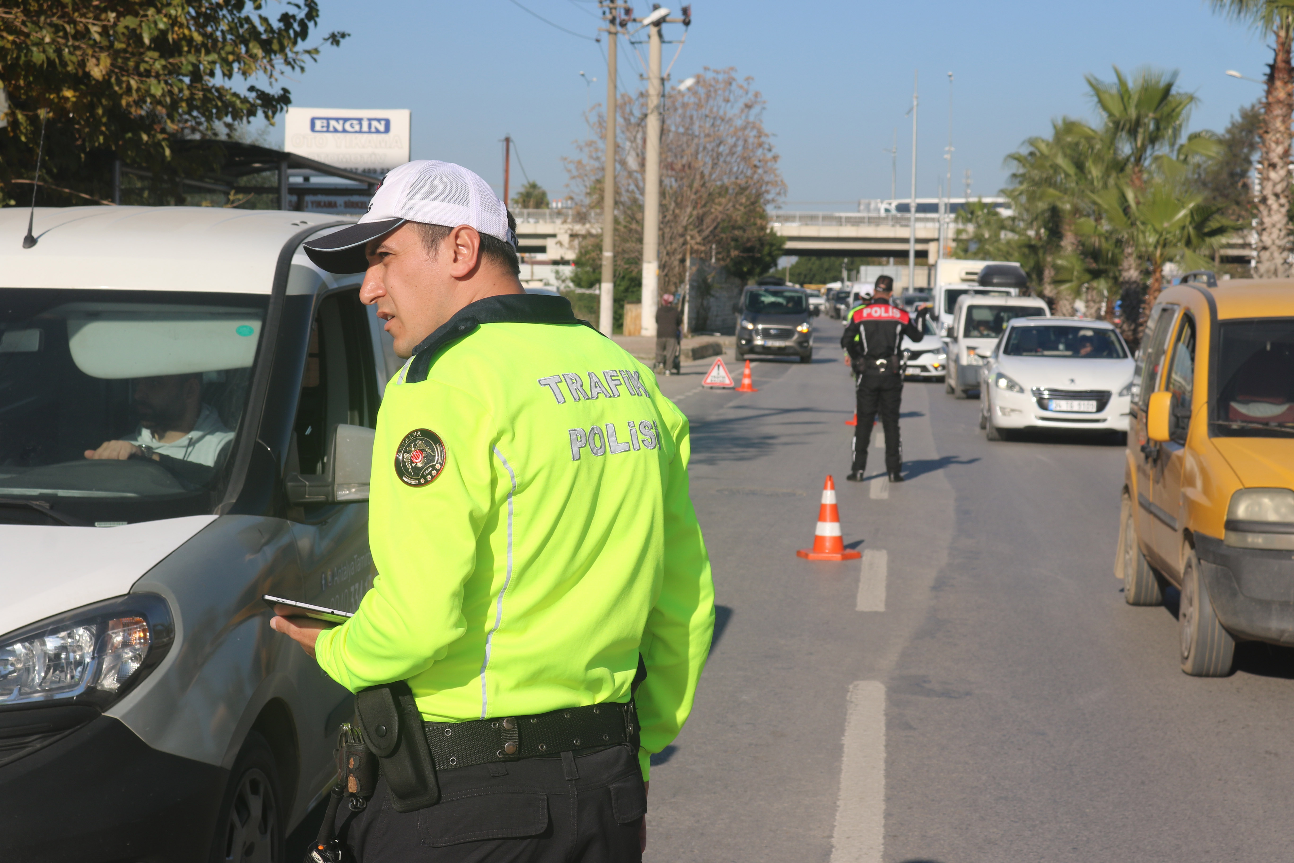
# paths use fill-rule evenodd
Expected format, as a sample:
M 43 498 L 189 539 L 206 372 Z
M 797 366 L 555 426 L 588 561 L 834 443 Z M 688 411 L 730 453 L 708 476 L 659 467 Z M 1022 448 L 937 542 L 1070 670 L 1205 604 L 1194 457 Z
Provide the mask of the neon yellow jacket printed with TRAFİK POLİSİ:
M 324 633 L 358 691 L 408 681 L 424 719 L 628 701 L 639 762 L 678 734 L 714 628 L 687 418 L 564 298 L 462 309 L 387 384 L 369 545 L 378 576 Z

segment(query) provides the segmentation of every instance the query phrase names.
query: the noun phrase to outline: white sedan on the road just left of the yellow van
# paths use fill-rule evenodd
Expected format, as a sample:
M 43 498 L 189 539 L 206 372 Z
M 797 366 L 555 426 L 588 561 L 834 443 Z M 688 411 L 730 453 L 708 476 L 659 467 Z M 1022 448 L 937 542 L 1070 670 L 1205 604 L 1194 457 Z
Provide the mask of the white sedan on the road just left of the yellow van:
M 1118 331 L 1086 318 L 1016 318 L 980 371 L 980 428 L 1127 435 L 1132 353 Z

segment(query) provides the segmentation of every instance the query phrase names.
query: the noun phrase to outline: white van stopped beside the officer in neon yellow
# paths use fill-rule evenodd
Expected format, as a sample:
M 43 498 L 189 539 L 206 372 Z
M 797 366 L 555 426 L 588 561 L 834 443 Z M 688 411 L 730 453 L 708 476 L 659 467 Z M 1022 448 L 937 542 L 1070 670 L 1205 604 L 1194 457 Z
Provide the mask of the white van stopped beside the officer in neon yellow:
M 361 276 L 300 251 L 344 223 L 40 208 L 23 248 L 26 224 L 0 210 L 0 846 L 282 859 L 353 699 L 261 595 L 358 607 L 400 362 Z

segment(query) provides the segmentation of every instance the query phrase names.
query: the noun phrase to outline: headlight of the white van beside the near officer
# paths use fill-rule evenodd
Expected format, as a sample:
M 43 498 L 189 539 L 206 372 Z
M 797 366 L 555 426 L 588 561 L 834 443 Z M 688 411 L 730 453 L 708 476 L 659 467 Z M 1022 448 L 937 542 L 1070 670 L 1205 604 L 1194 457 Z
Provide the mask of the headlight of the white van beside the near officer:
M 153 594 L 87 606 L 0 637 L 0 709 L 32 701 L 107 706 L 162 661 L 171 608 Z

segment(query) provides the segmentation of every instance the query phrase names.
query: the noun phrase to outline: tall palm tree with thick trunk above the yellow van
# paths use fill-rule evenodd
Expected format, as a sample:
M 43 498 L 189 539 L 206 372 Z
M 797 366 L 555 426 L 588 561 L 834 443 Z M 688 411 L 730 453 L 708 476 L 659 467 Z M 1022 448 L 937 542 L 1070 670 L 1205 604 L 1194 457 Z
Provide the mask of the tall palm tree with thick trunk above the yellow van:
M 1212 8 L 1236 21 L 1245 21 L 1276 39 L 1272 65 L 1267 67 L 1263 100 L 1263 131 L 1259 155 L 1258 247 L 1254 276 L 1282 278 L 1290 274 L 1290 116 L 1294 115 L 1294 1 L 1210 0 Z

